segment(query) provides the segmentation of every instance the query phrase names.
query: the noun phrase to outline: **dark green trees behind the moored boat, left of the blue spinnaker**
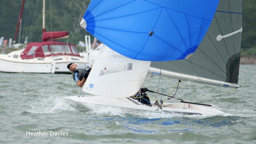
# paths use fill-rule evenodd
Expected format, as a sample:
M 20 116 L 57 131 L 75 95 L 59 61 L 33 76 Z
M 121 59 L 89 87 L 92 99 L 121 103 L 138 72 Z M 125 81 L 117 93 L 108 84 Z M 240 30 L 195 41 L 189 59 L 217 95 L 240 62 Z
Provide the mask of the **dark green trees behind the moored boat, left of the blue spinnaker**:
M 46 31 L 68 31 L 69 43 L 84 41 L 85 30 L 79 23 L 90 3 L 89 0 L 46 0 Z M 0 4 L 0 36 L 14 39 L 22 0 L 1 0 Z M 26 0 L 21 21 L 20 42 L 29 37 L 29 42 L 42 41 L 42 0 Z M 16 38 L 18 41 L 18 36 Z M 60 41 L 66 42 L 67 39 Z

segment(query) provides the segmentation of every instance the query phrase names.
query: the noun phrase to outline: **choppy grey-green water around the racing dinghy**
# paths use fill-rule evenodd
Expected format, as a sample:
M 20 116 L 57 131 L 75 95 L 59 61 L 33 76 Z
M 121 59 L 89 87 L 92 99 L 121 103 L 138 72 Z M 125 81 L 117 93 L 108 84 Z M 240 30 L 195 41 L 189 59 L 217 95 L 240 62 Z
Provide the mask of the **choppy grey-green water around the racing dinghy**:
M 145 86 L 156 91 L 157 83 L 154 76 Z M 168 94 L 177 80 L 162 78 L 162 83 Z M 80 93 L 72 75 L 0 73 L 0 143 L 255 144 L 256 65 L 240 66 L 239 84 L 242 87 L 235 90 L 207 85 L 227 112 L 224 116 L 188 116 L 70 104 L 60 97 Z M 221 109 L 203 84 L 186 84 L 175 96 Z M 48 135 L 27 136 L 26 131 Z

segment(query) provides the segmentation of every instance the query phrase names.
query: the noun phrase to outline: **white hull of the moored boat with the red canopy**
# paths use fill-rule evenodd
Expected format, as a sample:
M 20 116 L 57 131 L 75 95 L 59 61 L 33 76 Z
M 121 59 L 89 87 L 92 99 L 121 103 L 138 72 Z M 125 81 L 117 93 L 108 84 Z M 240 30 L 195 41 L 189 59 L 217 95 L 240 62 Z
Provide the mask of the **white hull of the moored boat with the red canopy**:
M 88 54 L 83 54 L 83 57 L 59 55 L 45 58 L 21 59 L 18 50 L 8 54 L 0 54 L 0 72 L 12 73 L 70 73 L 67 64 L 72 61 L 79 64 L 91 65 L 92 60 Z M 94 57 L 97 57 L 98 52 L 94 52 Z M 87 56 L 87 57 L 86 57 Z

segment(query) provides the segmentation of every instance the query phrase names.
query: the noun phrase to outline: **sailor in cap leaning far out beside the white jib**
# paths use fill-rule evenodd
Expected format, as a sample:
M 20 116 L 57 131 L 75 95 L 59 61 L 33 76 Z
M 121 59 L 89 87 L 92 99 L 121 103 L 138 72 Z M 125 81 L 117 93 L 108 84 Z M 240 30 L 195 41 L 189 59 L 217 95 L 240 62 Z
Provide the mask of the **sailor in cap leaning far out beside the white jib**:
M 79 87 L 82 87 L 89 76 L 92 66 L 77 65 L 76 63 L 69 62 L 67 68 L 73 74 L 73 79 Z

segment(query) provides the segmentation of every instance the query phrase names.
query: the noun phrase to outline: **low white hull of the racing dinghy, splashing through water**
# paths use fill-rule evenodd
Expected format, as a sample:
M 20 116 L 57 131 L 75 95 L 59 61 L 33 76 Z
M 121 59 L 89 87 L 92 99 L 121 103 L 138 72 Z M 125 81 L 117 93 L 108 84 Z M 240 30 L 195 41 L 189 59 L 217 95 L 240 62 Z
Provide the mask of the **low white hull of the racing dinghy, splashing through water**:
M 88 95 L 88 96 L 69 96 L 62 97 L 64 100 L 75 101 L 79 103 L 88 103 L 88 104 L 96 104 L 96 105 L 104 105 L 104 106 L 114 106 L 121 108 L 131 108 L 138 110 L 146 110 L 146 111 L 154 111 L 154 112 L 170 112 L 170 113 L 181 113 L 181 114 L 197 114 L 197 115 L 223 115 L 224 112 L 220 111 L 215 107 L 196 105 L 196 104 L 187 104 L 187 103 L 163 103 L 163 107 L 157 108 L 157 106 L 153 105 L 152 107 L 142 105 L 140 102 L 128 99 L 128 98 L 106 98 L 100 97 L 96 95 Z

